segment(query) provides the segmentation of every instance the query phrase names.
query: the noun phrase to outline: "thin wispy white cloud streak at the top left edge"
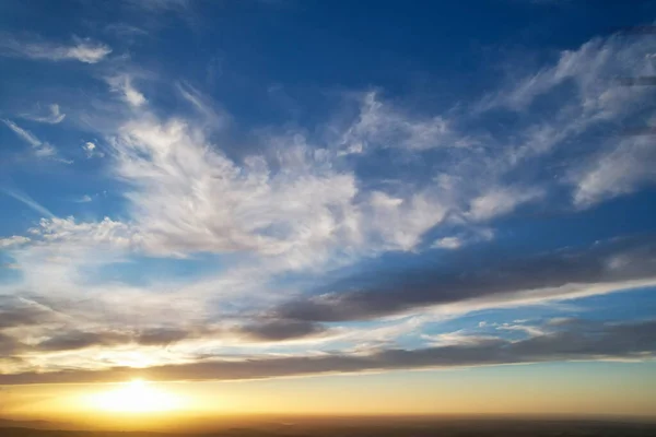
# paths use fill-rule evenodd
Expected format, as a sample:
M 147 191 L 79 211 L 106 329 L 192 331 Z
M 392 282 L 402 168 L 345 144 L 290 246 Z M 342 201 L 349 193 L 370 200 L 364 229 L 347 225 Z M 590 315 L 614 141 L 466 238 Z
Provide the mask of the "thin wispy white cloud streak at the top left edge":
M 112 49 L 90 38 L 73 38 L 74 45 L 66 46 L 43 40 L 17 40 L 4 35 L 0 38 L 0 55 L 36 60 L 65 61 L 77 60 L 84 63 L 102 61 Z

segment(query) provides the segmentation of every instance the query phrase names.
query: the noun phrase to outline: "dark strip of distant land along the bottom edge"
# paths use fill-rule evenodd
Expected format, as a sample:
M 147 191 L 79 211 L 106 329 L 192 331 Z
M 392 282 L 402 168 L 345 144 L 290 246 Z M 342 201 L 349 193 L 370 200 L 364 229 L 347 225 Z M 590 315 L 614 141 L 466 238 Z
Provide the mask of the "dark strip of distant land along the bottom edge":
M 62 430 L 47 429 L 47 422 L 0 422 L 2 437 L 473 437 L 473 436 L 635 436 L 656 435 L 655 423 L 591 420 L 507 420 L 507 418 L 318 418 L 298 422 L 256 422 L 206 432 Z M 37 429 L 38 427 L 39 429 Z

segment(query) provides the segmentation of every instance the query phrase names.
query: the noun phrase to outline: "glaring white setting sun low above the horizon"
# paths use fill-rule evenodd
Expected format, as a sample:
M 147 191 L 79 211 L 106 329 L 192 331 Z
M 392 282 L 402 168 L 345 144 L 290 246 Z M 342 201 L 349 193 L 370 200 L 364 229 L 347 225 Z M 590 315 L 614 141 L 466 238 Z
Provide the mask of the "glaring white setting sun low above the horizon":
M 96 393 L 91 401 L 98 410 L 120 413 L 156 413 L 181 408 L 178 397 L 143 379 L 133 379 L 118 389 Z

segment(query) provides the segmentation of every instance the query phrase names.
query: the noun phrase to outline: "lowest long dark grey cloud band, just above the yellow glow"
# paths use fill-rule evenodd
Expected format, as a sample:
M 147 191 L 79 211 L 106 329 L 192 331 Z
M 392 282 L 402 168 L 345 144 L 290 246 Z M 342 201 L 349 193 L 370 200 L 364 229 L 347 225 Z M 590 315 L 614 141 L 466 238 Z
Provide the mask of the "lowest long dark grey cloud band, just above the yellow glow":
M 120 367 L 96 371 L 23 373 L 0 375 L 0 385 L 120 381 L 134 377 L 149 380 L 236 380 L 553 361 L 645 359 L 656 356 L 656 320 L 632 323 L 570 320 L 557 326 L 559 328 L 553 331 L 519 341 L 471 336 L 457 344 L 419 350 L 380 350 L 370 354 L 199 361 L 147 369 Z

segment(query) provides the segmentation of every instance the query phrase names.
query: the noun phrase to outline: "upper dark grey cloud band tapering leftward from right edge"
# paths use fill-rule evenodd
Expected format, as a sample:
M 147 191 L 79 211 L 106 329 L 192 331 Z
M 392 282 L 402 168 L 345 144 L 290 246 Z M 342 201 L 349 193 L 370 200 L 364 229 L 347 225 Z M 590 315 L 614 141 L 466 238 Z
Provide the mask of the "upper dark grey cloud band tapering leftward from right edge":
M 478 250 L 478 249 L 472 249 Z M 610 284 L 656 277 L 656 237 L 614 239 L 583 249 L 503 260 L 503 253 L 443 256 L 422 268 L 387 269 L 340 281 L 313 297 L 273 310 L 281 319 L 372 319 L 422 306 L 517 294 L 569 284 Z M 444 265 L 454 265 L 445 269 Z

